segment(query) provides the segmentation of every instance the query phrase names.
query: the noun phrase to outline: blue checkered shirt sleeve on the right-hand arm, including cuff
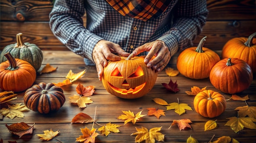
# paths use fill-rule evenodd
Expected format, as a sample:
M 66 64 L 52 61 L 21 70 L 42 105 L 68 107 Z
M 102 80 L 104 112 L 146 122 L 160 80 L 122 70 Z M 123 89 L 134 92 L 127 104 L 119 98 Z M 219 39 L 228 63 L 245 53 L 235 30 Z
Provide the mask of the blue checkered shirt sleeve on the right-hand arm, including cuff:
M 158 40 L 164 41 L 171 56 L 179 50 L 191 47 L 193 40 L 202 32 L 208 15 L 206 0 L 179 0 L 174 22 L 169 31 Z

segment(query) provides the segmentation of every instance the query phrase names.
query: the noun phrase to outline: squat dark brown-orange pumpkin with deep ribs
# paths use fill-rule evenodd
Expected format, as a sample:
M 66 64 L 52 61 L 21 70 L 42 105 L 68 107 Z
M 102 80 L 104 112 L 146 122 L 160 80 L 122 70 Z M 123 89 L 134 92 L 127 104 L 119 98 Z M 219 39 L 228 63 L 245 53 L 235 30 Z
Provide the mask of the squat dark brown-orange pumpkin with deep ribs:
M 61 87 L 40 82 L 26 90 L 23 100 L 27 108 L 46 114 L 58 111 L 66 99 Z

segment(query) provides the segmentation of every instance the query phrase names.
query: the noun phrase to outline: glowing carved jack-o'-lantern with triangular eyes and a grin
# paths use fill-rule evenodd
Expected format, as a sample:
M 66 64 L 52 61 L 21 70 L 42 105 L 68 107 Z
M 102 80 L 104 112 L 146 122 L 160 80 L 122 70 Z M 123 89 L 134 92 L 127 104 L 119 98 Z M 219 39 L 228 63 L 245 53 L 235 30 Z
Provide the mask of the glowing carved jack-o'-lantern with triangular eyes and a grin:
M 121 61 L 109 61 L 104 68 L 102 83 L 105 89 L 119 98 L 140 98 L 155 85 L 157 72 L 148 68 L 144 57 L 131 55 Z

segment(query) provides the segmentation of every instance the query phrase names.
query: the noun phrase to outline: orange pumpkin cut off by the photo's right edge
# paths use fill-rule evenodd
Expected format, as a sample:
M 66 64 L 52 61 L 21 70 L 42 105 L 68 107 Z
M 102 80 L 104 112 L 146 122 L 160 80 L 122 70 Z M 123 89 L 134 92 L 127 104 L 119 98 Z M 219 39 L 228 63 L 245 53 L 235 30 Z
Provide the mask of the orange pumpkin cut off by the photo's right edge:
M 256 32 L 247 37 L 236 37 L 227 41 L 222 49 L 222 58 L 239 58 L 256 72 Z

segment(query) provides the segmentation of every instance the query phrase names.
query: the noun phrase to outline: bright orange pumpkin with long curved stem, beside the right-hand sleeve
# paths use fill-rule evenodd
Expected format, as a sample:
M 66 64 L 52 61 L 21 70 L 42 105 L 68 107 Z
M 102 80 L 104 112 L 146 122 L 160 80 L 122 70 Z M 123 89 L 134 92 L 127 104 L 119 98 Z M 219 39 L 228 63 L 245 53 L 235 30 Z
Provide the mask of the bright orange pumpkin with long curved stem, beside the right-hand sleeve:
M 180 74 L 192 79 L 209 77 L 211 68 L 220 61 L 220 57 L 214 51 L 203 47 L 205 38 L 200 41 L 198 47 L 187 48 L 180 53 L 177 58 Z

